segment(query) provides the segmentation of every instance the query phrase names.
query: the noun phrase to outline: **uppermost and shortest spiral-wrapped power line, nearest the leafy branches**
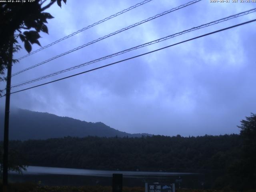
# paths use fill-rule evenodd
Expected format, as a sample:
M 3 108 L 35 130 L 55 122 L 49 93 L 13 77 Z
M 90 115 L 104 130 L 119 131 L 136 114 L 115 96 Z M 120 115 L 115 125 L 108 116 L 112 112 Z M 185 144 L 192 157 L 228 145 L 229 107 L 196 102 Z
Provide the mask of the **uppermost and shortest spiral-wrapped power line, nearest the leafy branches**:
M 78 31 L 76 31 L 76 32 L 74 32 L 74 33 L 72 33 L 72 34 L 69 34 L 68 36 L 65 36 L 65 37 L 63 37 L 63 38 L 61 38 L 61 39 L 59 39 L 59 40 L 56 40 L 56 41 L 54 41 L 54 42 L 52 42 L 52 43 L 50 43 L 50 44 L 48 44 L 48 45 L 46 45 L 46 46 L 43 46 L 42 48 L 39 48 L 38 50 L 35 50 L 35 51 L 33 51 L 33 52 L 29 53 L 29 54 L 26 54 L 26 55 L 24 55 L 24 56 L 18 58 L 18 60 L 22 60 L 23 58 L 26 58 L 26 57 L 28 57 L 28 56 L 30 56 L 30 55 L 32 55 L 32 54 L 35 54 L 35 53 L 37 53 L 37 52 L 39 52 L 39 51 L 41 51 L 41 50 L 44 50 L 45 48 L 48 48 L 48 47 L 50 47 L 50 46 L 52 46 L 52 45 L 54 45 L 54 44 L 56 44 L 56 43 L 58 43 L 58 42 L 61 42 L 61 41 L 65 40 L 65 39 L 67 39 L 67 38 L 70 38 L 70 37 L 72 37 L 72 36 L 74 36 L 74 35 L 76 35 L 76 34 L 82 32 L 82 31 L 84 31 L 84 30 L 87 30 L 87 29 L 89 29 L 89 28 L 91 28 L 91 27 L 93 27 L 93 26 L 96 26 L 96 25 L 98 25 L 98 24 L 100 24 L 100 23 L 103 23 L 103 22 L 105 22 L 105 21 L 107 21 L 107 20 L 110 20 L 110 19 L 112 19 L 112 18 L 114 18 L 114 17 L 116 17 L 116 16 L 118 16 L 118 15 L 121 15 L 121 14 L 123 14 L 123 13 L 125 13 L 125 12 L 128 12 L 128 11 L 130 11 L 130 10 L 132 10 L 132 9 L 138 7 L 138 6 L 141 6 L 141 5 L 143 5 L 143 4 L 146 4 L 146 3 L 150 2 L 150 1 L 152 1 L 152 0 L 144 0 L 144 1 L 140 2 L 140 3 L 137 3 L 137 4 L 134 5 L 134 6 L 131 6 L 131 7 L 127 8 L 127 9 L 124 9 L 124 10 L 122 10 L 122 11 L 120 11 L 120 12 L 114 14 L 114 15 L 108 16 L 108 17 L 106 17 L 106 18 L 104 18 L 104 19 L 102 19 L 102 20 L 100 20 L 100 21 L 98 21 L 98 22 L 96 22 L 96 23 L 94 23 L 94 24 L 91 24 L 91 25 L 89 25 L 89 26 L 87 26 L 87 27 L 85 27 L 85 28 L 82 28 L 82 29 L 80 29 L 80 30 L 78 30 Z

